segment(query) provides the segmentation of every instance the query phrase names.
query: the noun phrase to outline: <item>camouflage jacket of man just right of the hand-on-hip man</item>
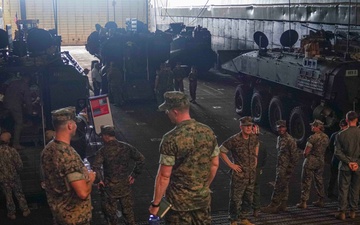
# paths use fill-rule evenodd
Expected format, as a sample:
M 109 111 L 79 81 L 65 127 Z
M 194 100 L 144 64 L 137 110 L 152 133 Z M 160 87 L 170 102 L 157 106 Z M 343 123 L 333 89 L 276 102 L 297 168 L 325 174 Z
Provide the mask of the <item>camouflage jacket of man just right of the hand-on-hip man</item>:
M 283 136 L 277 137 L 276 149 L 278 152 L 278 167 L 290 164 L 295 166 L 299 159 L 299 153 L 297 151 L 296 140 L 289 133 L 286 132 Z

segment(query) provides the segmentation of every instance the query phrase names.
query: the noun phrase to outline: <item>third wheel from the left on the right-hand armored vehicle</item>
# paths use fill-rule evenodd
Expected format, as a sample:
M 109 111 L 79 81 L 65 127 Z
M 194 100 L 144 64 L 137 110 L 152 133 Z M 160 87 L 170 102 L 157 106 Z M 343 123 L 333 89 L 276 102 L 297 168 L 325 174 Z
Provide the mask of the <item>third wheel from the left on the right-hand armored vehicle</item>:
M 284 107 L 284 99 L 280 96 L 274 96 L 269 103 L 268 117 L 269 125 L 272 132 L 276 132 L 276 121 L 286 120 L 288 112 Z

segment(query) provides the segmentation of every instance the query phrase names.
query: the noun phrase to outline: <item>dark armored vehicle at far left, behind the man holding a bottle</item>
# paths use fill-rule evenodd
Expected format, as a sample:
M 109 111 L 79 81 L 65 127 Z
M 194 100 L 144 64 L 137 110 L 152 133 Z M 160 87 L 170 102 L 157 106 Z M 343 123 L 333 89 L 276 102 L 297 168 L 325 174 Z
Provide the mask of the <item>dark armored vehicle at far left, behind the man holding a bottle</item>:
M 11 81 L 22 76 L 30 77 L 32 112 L 24 112 L 24 125 L 20 142 L 25 146 L 20 151 L 24 163 L 21 174 L 23 189 L 27 195 L 42 193 L 40 187 L 40 153 L 51 138 L 51 111 L 75 106 L 81 115 L 78 131 L 72 140 L 80 156 L 85 157 L 86 130 L 88 128 L 87 99 L 89 97 L 87 76 L 69 52 L 60 52 L 60 43 L 50 32 L 32 28 L 26 36 L 12 42 L 10 29 L 0 29 L 0 84 L 1 97 L 6 98 L 6 89 Z M 26 38 L 23 38 L 26 37 Z M 10 41 L 9 41 L 10 39 Z M 11 46 L 9 43 L 21 43 Z M 1 132 L 12 132 L 13 124 L 9 111 L 0 101 Z M 46 137 L 48 134 L 48 137 Z

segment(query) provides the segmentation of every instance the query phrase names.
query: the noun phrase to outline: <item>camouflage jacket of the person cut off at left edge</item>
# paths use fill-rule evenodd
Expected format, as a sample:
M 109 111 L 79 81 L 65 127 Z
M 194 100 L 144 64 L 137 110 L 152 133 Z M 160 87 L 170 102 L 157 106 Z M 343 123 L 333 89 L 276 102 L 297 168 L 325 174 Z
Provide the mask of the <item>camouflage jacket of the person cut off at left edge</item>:
M 0 183 L 14 181 L 23 163 L 15 148 L 0 144 Z

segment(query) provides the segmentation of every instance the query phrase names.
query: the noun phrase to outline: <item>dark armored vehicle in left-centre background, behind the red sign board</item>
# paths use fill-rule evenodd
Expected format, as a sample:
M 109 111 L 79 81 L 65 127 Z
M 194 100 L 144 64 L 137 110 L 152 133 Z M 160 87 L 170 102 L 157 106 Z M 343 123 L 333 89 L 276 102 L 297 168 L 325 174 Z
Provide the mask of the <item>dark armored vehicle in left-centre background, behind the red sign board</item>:
M 116 65 L 115 79 L 122 89 L 124 102 L 154 99 L 155 71 L 169 59 L 171 37 L 142 28 L 126 30 L 108 22 L 105 27 L 98 25 L 97 31 L 87 39 L 86 49 L 99 58 L 102 65 L 109 68 L 111 64 Z M 106 77 L 110 78 L 109 70 Z M 110 91 L 110 97 L 112 94 Z

